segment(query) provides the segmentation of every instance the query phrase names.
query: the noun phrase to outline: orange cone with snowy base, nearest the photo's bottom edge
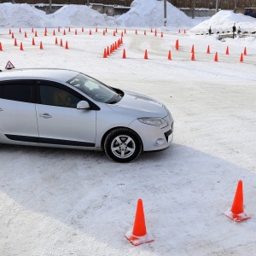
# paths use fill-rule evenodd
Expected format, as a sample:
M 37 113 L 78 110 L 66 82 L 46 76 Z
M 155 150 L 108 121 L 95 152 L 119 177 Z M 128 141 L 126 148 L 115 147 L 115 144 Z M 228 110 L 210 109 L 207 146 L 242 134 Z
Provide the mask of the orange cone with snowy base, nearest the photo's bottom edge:
M 145 217 L 143 211 L 143 201 L 139 199 L 137 201 L 137 210 L 135 220 L 133 224 L 133 230 L 129 230 L 125 237 L 131 241 L 134 246 L 154 241 L 154 237 L 147 233 Z

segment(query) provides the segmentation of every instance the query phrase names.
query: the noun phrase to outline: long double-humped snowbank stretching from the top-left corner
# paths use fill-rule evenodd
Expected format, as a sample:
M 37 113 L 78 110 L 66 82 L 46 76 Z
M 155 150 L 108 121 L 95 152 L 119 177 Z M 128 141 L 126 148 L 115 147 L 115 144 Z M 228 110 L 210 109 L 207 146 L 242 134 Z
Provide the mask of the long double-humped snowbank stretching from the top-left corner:
M 44 27 L 44 26 L 116 26 L 112 17 L 102 15 L 86 5 L 67 5 L 54 14 L 29 4 L 0 4 L 0 26 Z

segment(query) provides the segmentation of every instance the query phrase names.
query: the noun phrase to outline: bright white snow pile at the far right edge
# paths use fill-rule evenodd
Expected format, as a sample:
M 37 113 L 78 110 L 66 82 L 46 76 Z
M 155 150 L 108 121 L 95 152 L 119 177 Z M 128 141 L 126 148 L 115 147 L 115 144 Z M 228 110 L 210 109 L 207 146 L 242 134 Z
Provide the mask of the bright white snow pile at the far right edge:
M 236 28 L 240 26 L 241 32 L 255 32 L 256 19 L 250 16 L 235 14 L 233 11 L 221 10 L 211 19 L 205 20 L 189 30 L 189 32 L 208 32 L 210 26 L 212 32 L 232 31 L 232 26 L 236 23 Z

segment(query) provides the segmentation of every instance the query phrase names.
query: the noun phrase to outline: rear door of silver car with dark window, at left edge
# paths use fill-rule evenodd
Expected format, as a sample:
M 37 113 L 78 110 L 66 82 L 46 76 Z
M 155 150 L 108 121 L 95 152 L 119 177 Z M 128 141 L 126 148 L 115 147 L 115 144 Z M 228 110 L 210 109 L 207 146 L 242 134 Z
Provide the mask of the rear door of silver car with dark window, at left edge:
M 0 82 L 0 129 L 10 140 L 38 142 L 35 80 Z

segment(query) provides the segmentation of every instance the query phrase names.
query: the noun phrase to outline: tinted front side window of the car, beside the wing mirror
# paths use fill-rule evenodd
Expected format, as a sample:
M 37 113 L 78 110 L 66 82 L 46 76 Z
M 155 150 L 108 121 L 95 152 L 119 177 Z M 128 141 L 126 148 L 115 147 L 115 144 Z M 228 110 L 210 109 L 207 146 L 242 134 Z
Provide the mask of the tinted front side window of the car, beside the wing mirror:
M 57 107 L 77 108 L 79 97 L 55 86 L 39 85 L 41 103 Z

